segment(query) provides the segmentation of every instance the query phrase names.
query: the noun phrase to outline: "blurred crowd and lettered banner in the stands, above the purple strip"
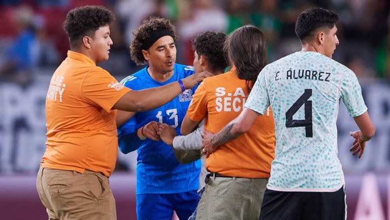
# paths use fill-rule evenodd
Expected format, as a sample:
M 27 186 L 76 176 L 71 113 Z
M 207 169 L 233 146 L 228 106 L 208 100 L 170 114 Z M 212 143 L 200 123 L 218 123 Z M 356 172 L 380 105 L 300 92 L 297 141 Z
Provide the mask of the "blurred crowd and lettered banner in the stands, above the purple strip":
M 268 62 L 272 62 L 301 50 L 294 27 L 303 10 L 319 6 L 335 11 L 340 17 L 340 45 L 333 58 L 352 69 L 363 85 L 378 128 L 372 145 L 383 151 L 378 160 L 367 155 L 359 162 L 365 168 L 360 170 L 380 172 L 390 167 L 390 151 L 386 150 L 390 131 L 388 0 L 0 0 L 0 173 L 35 172 L 38 168 L 45 150 L 47 88 L 69 50 L 62 24 L 68 11 L 84 5 L 104 5 L 116 15 L 110 25 L 114 42 L 110 58 L 100 66 L 118 81 L 143 68 L 131 60 L 129 43 L 133 30 L 151 15 L 175 24 L 179 35 L 176 61 L 192 65 L 191 39 L 198 33 L 216 30 L 229 34 L 251 23 L 265 33 Z M 347 172 L 354 171 L 357 163 L 346 152 L 353 125 L 339 117 L 339 150 Z M 136 153 L 118 156 L 116 169 L 135 169 Z

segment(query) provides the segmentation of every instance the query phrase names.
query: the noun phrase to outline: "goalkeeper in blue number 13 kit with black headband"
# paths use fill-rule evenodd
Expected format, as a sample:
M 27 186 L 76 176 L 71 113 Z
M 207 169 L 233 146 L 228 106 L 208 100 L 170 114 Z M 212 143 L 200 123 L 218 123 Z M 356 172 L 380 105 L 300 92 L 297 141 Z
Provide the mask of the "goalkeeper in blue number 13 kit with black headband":
M 134 32 L 130 46 L 136 64 L 147 64 L 121 83 L 134 90 L 157 87 L 194 73 L 192 66 L 176 64 L 175 27 L 167 19 L 151 17 Z M 180 82 L 180 81 L 179 81 Z M 197 87 L 197 86 L 196 86 Z M 118 112 L 118 143 L 123 153 L 137 149 L 137 219 L 170 220 L 173 211 L 188 219 L 198 204 L 201 161 L 180 164 L 171 147 L 159 140 L 158 124 L 167 123 L 180 132 L 181 121 L 194 89 L 182 87 L 171 102 L 151 111 Z M 161 94 L 164 96 L 165 94 Z M 126 120 L 129 116 L 134 116 Z

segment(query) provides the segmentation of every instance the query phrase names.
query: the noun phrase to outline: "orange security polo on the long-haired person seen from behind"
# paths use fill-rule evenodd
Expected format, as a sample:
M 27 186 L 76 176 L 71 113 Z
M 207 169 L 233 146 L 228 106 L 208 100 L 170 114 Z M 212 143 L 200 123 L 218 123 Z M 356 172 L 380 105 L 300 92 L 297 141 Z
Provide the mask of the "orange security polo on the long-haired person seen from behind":
M 242 111 L 248 97 L 245 80 L 236 71 L 206 78 L 197 88 L 187 116 L 206 118 L 205 129 L 217 133 Z M 210 172 L 244 178 L 269 178 L 275 157 L 275 124 L 271 109 L 260 115 L 247 133 L 220 145 L 206 159 Z

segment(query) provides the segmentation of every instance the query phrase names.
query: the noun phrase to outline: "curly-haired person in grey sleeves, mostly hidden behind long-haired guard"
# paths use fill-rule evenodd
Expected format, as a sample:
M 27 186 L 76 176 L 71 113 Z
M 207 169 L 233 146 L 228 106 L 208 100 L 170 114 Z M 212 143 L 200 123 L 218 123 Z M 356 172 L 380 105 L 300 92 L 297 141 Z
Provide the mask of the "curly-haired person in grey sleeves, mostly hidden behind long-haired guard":
M 214 76 L 224 73 L 228 67 L 226 54 L 223 51 L 223 43 L 226 35 L 222 32 L 204 32 L 192 39 L 194 59 L 193 67 L 196 73 L 208 71 Z M 205 168 L 204 157 L 201 157 L 205 119 L 201 120 L 198 128 L 185 136 L 177 136 L 177 132 L 169 124 L 160 124 L 159 135 L 164 143 L 170 145 L 176 159 L 183 164 L 202 159 L 202 169 L 199 175 L 199 198 L 202 197 L 205 187 L 205 178 L 209 173 Z M 197 209 L 188 220 L 195 220 Z

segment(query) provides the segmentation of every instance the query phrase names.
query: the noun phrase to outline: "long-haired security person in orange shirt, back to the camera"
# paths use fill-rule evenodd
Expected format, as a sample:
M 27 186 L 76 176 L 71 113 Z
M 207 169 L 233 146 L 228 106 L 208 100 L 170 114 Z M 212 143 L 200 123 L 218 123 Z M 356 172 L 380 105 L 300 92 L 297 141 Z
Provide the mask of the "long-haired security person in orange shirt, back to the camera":
M 205 132 L 212 133 L 236 118 L 266 65 L 265 38 L 255 26 L 235 30 L 224 48 L 234 68 L 199 85 L 182 122 L 183 135 L 192 132 L 203 118 Z M 274 154 L 275 124 L 269 110 L 256 119 L 246 134 L 207 155 L 206 169 L 210 174 L 196 219 L 257 220 Z

